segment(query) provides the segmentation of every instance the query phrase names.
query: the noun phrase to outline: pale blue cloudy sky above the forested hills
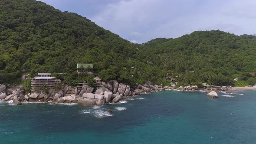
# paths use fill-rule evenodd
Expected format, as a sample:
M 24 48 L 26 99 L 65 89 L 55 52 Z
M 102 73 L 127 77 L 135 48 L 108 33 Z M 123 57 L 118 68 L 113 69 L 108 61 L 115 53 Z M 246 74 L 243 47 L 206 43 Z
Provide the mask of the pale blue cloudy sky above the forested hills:
M 256 0 L 40 0 L 133 43 L 197 30 L 256 34 Z

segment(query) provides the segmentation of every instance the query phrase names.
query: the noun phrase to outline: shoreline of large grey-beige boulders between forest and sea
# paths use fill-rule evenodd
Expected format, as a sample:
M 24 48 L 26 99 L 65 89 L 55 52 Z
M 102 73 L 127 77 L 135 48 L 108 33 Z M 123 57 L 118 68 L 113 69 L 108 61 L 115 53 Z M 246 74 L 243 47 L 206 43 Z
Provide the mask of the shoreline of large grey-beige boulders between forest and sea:
M 23 91 L 22 85 L 16 88 L 7 88 L 6 85 L 0 85 L 0 100 L 13 101 L 12 105 L 22 105 L 23 102 L 52 102 L 54 104 L 77 103 L 83 106 L 93 106 L 117 103 L 130 96 L 165 90 L 207 92 L 206 97 L 208 98 L 218 98 L 217 92 L 220 91 L 235 92 L 235 89 L 226 86 L 221 88 L 198 88 L 197 85 L 194 85 L 175 88 L 175 84 L 161 86 L 152 85 L 148 82 L 144 85 L 130 87 L 115 80 L 100 82 L 100 84 L 101 86 L 96 90 L 88 85 L 84 85 L 81 90 L 77 90 L 76 87 L 70 85 L 63 85 L 61 90 L 49 89 L 47 92 L 33 92 L 27 95 Z

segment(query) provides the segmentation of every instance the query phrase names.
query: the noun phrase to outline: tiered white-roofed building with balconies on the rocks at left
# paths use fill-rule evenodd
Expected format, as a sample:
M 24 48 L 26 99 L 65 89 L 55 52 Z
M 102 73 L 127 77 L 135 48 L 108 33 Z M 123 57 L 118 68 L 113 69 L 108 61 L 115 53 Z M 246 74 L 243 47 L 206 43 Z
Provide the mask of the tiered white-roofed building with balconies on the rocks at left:
M 61 79 L 51 77 L 50 73 L 38 73 L 38 75 L 31 79 L 31 91 L 41 90 L 43 85 L 47 88 L 55 88 L 56 84 L 61 84 Z

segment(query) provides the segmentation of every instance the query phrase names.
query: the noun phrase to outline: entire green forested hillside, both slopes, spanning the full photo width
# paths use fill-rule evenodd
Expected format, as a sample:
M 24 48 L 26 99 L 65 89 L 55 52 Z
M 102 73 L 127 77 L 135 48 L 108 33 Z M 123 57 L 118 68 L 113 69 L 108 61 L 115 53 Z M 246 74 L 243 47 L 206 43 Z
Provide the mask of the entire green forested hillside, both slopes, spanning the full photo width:
M 105 30 L 76 13 L 35 0 L 0 0 L 0 84 L 20 84 L 24 74 L 53 73 L 63 83 L 116 79 L 181 85 L 252 85 L 256 78 L 256 36 L 197 31 L 144 44 Z M 76 63 L 93 63 L 95 75 L 76 73 Z M 64 72 L 65 75 L 58 75 Z

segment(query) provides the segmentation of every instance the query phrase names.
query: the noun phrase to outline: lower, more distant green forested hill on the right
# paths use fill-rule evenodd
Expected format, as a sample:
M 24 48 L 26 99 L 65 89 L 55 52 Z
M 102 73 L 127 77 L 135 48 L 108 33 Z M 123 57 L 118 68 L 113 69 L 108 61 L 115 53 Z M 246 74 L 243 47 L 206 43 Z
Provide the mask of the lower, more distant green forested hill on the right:
M 256 83 L 255 77 L 249 75 L 256 72 L 256 36 L 253 35 L 196 31 L 177 39 L 158 38 L 135 46 L 147 53 L 142 61 L 159 65 L 169 75 L 181 74 L 185 83 L 232 85 L 235 78 L 247 81 L 236 82 L 238 85 Z

